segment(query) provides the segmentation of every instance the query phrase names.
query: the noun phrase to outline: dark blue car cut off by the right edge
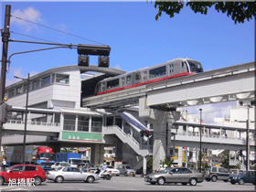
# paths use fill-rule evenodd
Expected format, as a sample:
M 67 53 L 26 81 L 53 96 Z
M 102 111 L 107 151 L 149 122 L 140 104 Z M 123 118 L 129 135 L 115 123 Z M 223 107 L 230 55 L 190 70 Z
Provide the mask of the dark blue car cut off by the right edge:
M 244 171 L 239 175 L 229 176 L 229 182 L 233 185 L 239 183 L 239 185 L 243 185 L 245 183 L 252 183 L 256 185 L 256 171 Z

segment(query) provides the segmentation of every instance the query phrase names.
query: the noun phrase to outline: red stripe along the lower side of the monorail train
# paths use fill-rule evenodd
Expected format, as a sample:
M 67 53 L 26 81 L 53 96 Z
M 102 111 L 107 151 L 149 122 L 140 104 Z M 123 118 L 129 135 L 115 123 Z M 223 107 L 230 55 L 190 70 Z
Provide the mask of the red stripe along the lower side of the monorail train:
M 158 82 L 158 81 L 162 81 L 162 80 L 170 80 L 170 79 L 174 79 L 174 78 L 178 78 L 178 77 L 182 77 L 182 76 L 187 76 L 187 75 L 193 75 L 193 73 L 184 72 L 184 73 L 168 76 L 168 77 L 165 77 L 165 78 L 160 78 L 160 79 L 156 79 L 156 80 L 148 80 L 148 81 L 140 82 L 140 83 L 137 83 L 137 84 L 134 84 L 134 85 L 125 86 L 125 87 L 122 87 L 122 88 L 116 88 L 116 89 L 113 89 L 113 90 L 110 90 L 110 91 L 98 92 L 95 95 L 106 94 L 106 93 L 114 92 L 114 91 L 121 91 L 121 90 L 134 88 L 134 87 L 142 86 L 142 85 L 153 83 L 153 82 Z

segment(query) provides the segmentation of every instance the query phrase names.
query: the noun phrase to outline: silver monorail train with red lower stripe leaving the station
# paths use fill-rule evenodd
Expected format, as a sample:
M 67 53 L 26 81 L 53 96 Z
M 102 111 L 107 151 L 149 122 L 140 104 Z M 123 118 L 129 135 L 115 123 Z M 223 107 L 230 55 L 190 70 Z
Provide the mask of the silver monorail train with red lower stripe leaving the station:
M 193 59 L 173 59 L 165 63 L 134 70 L 112 78 L 98 82 L 95 95 L 101 95 L 113 91 L 121 91 L 144 84 L 154 83 L 161 80 L 169 80 L 181 76 L 203 72 L 201 63 Z

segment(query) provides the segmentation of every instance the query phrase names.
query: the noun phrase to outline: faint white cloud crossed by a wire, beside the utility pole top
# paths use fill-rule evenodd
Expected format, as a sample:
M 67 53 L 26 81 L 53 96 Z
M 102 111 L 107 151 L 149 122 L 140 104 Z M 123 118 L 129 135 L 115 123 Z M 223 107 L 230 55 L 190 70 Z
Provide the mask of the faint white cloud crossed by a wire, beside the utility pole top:
M 41 13 L 38 10 L 34 9 L 33 7 L 28 7 L 27 9 L 24 10 L 17 9 L 11 15 L 11 24 L 19 26 L 25 29 L 27 32 L 29 32 L 32 29 L 38 30 L 38 27 L 36 24 L 29 23 L 25 20 L 32 21 L 34 23 L 42 21 Z M 18 19 L 14 16 L 22 19 Z

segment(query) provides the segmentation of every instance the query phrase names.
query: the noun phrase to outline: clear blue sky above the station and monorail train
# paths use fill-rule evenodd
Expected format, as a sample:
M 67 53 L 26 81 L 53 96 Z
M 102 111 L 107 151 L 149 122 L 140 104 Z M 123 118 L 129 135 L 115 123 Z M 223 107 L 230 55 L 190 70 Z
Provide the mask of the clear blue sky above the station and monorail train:
M 185 7 L 173 18 L 164 13 L 156 21 L 157 9 L 150 1 L 2 1 L 1 28 L 5 23 L 5 5 L 11 5 L 13 16 L 78 36 L 69 36 L 11 17 L 10 31 L 14 33 L 10 38 L 29 41 L 45 39 L 65 44 L 99 45 L 93 41 L 100 42 L 112 48 L 110 67 L 126 71 L 176 58 L 196 59 L 205 70 L 219 69 L 251 62 L 255 57 L 254 21 L 235 25 L 230 17 L 214 8 L 209 9 L 205 16 Z M 8 56 L 19 51 L 48 47 L 10 42 Z M 6 85 L 15 82 L 14 75 L 27 77 L 27 73 L 33 75 L 54 67 L 77 65 L 77 61 L 77 50 L 69 48 L 13 56 Z M 97 65 L 98 58 L 91 56 L 90 62 Z

